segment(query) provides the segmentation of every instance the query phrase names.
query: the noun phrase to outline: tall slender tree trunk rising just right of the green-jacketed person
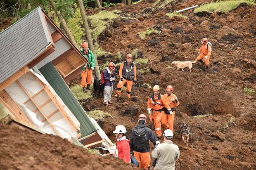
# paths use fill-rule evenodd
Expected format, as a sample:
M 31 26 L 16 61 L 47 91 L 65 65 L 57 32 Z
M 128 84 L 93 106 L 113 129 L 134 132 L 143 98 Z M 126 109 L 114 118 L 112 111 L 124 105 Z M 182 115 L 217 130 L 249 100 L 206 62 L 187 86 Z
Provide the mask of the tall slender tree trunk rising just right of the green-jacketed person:
M 86 14 L 85 14 L 85 8 L 83 6 L 83 1 L 82 0 L 77 0 L 77 2 L 78 2 L 78 7 L 80 8 L 80 12 L 81 12 L 82 20 L 83 20 L 83 26 L 85 28 L 86 39 L 88 40 L 88 45 L 89 45 L 90 50 L 94 54 L 95 73 L 96 73 L 97 78 L 101 79 L 100 68 L 99 68 L 99 65 L 98 65 L 97 56 L 95 55 L 94 46 L 92 44 L 92 38 L 91 38 L 91 35 L 90 35 L 90 31 L 89 31 L 89 25 L 88 25 L 88 21 L 87 21 Z

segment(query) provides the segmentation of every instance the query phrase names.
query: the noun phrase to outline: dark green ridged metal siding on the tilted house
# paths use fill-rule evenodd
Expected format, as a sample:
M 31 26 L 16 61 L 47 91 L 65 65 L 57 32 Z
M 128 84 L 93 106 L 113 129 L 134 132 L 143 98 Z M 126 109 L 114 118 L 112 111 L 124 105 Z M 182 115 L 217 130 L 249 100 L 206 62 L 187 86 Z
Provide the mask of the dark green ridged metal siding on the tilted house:
M 49 62 L 45 66 L 39 69 L 48 83 L 52 86 L 55 92 L 62 99 L 64 104 L 69 108 L 73 115 L 80 122 L 81 137 L 85 137 L 95 131 L 95 127 L 92 125 L 90 118 L 83 110 L 82 106 L 77 101 L 69 87 L 66 85 L 63 78 L 59 75 L 52 62 Z

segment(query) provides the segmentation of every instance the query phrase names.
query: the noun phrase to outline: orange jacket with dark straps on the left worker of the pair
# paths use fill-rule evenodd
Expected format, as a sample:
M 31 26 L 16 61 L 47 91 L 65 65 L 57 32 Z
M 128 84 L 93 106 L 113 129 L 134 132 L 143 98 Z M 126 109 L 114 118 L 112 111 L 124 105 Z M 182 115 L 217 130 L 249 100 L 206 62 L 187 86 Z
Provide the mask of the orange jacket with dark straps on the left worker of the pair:
M 152 96 L 154 96 L 154 94 L 150 95 L 147 100 L 147 110 L 151 110 L 151 107 L 153 110 L 160 110 L 163 107 L 170 109 L 170 106 L 167 104 L 163 95 L 158 93 L 158 96 L 154 96 L 155 102 L 153 101 Z

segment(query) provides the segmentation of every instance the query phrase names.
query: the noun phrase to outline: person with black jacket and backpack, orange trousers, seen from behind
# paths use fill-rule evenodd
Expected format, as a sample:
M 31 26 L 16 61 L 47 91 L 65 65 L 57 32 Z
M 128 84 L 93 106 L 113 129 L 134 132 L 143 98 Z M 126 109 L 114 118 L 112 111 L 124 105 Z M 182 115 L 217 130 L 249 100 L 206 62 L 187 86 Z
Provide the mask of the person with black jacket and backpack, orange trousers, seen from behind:
M 134 157 L 139 163 L 139 168 L 150 170 L 149 139 L 156 146 L 160 144 L 154 132 L 146 126 L 147 117 L 140 114 L 138 125 L 130 133 L 130 150 L 133 150 Z

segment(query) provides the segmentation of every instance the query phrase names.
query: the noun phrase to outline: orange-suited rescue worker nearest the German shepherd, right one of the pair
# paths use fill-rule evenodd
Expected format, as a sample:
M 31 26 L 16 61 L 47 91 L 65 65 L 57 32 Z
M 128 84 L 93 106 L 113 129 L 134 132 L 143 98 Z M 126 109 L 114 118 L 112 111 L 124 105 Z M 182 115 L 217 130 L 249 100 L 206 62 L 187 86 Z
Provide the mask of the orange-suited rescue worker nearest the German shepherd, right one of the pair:
M 170 106 L 171 111 L 169 112 L 170 114 L 164 114 L 162 117 L 162 124 L 164 128 L 166 129 L 171 129 L 173 132 L 173 121 L 174 121 L 174 106 L 179 106 L 180 102 L 178 101 L 177 96 L 172 93 L 173 92 L 173 86 L 168 85 L 166 87 L 166 94 L 164 94 L 164 99 L 167 102 L 167 104 Z M 167 124 L 168 122 L 168 124 Z

